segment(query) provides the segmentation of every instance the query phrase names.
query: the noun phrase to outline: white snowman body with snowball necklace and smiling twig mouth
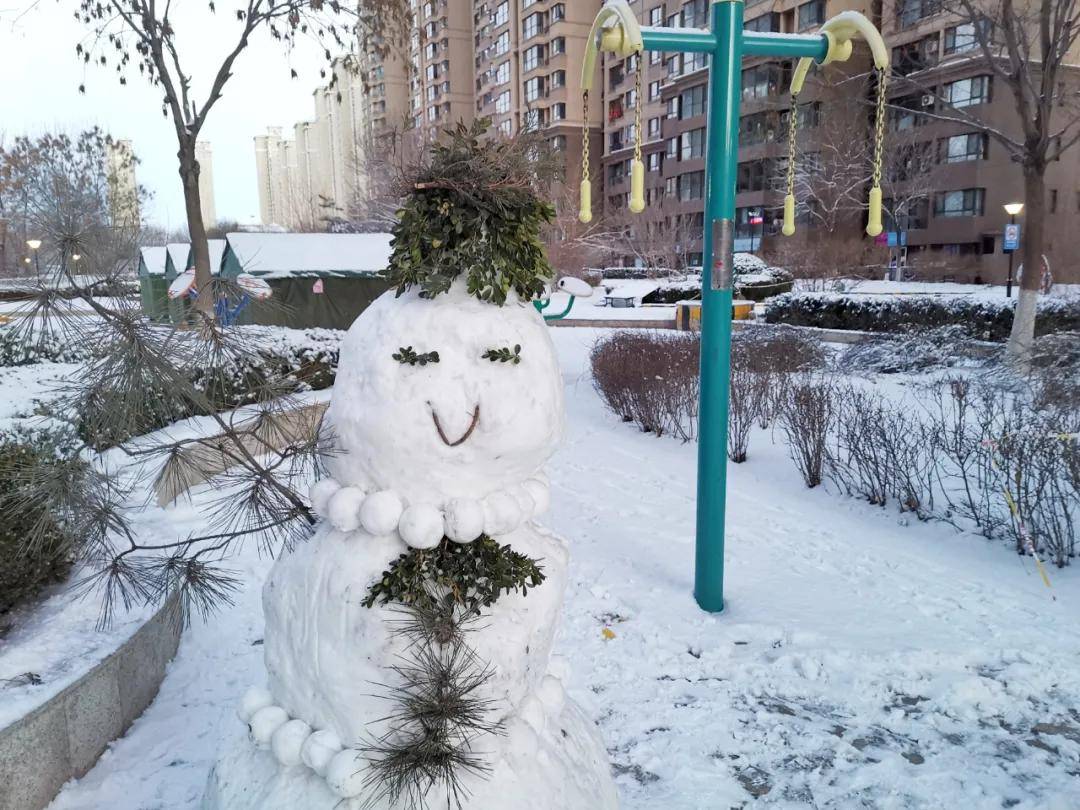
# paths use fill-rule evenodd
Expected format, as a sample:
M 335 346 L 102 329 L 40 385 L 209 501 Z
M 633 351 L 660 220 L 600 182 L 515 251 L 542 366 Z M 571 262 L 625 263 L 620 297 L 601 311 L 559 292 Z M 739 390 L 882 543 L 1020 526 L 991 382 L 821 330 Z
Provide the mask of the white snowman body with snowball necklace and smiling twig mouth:
M 490 359 L 515 347 L 518 362 Z M 395 359 L 405 348 L 427 362 Z M 409 545 L 430 546 L 436 527 L 438 540 L 459 542 L 483 530 L 545 577 L 527 594 L 501 595 L 468 633 L 491 670 L 483 698 L 501 732 L 475 741 L 487 770 L 463 774 L 462 806 L 617 807 L 596 729 L 550 667 L 568 553 L 534 518 L 546 507 L 541 468 L 562 435 L 562 396 L 530 305 L 484 303 L 456 282 L 433 299 L 388 293 L 356 320 L 326 418 L 332 480 L 312 499 L 326 519 L 264 588 L 267 689 L 245 697 L 247 726 L 235 725 L 211 774 L 207 810 L 397 807 L 357 784 L 365 744 L 391 731 L 387 687 L 410 642 L 394 632 L 394 605 L 363 603 Z M 445 804 L 445 789 L 428 798 Z

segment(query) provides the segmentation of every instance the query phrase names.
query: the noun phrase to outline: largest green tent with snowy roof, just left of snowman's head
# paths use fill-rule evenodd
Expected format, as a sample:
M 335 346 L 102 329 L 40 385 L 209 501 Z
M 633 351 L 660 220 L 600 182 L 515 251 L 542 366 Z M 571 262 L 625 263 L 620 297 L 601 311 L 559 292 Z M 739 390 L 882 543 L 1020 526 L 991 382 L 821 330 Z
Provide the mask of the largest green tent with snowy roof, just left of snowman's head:
M 238 323 L 347 329 L 389 288 L 382 270 L 389 233 L 229 233 L 221 275 L 266 281 L 267 301 L 252 301 Z

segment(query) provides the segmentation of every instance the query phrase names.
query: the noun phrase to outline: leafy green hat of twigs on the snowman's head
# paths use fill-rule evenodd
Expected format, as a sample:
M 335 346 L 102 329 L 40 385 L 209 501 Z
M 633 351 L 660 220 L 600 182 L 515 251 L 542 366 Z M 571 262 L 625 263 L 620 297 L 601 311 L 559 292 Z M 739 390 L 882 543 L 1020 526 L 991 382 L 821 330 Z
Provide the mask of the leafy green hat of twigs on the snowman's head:
M 489 122 L 447 130 L 411 183 L 393 229 L 387 275 L 397 295 L 432 298 L 464 275 L 469 293 L 502 306 L 528 301 L 554 276 L 541 231 L 555 216 L 537 189 L 552 170 L 529 134 L 498 138 Z

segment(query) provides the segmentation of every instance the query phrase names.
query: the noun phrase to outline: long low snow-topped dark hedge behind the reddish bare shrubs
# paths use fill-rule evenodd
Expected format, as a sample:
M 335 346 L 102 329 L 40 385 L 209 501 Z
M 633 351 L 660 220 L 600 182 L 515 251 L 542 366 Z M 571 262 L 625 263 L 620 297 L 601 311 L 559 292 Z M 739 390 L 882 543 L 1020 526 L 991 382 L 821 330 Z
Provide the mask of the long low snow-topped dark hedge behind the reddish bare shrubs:
M 766 305 L 766 323 L 824 329 L 909 332 L 956 326 L 970 338 L 1003 341 L 1012 328 L 1015 301 L 973 297 L 846 296 L 789 293 Z M 1080 301 L 1042 298 L 1036 335 L 1080 330 Z

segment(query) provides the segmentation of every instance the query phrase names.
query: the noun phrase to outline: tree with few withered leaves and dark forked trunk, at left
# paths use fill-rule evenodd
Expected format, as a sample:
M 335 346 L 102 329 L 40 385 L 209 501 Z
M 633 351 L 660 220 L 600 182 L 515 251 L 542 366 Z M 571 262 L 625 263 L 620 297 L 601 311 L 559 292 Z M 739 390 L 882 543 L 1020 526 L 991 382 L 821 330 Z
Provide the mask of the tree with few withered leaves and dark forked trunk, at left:
M 204 12 L 205 28 L 234 26 L 234 39 L 216 69 L 205 96 L 195 97 L 192 84 L 195 66 L 205 58 L 204 43 L 192 40 L 185 51 L 174 26 L 173 3 L 158 0 L 72 0 L 76 15 L 86 26 L 90 35 L 76 51 L 86 64 L 116 66 L 121 84 L 126 84 L 127 72 L 134 66 L 163 94 L 162 112 L 170 117 L 176 132 L 177 158 L 188 233 L 195 267 L 199 291 L 210 291 L 212 276 L 206 226 L 202 218 L 199 194 L 199 161 L 195 143 L 206 120 L 220 100 L 225 87 L 237 68 L 238 59 L 253 37 L 268 33 L 292 49 L 302 39 L 313 40 L 323 50 L 327 64 L 333 60 L 330 48 L 347 50 L 353 45 L 356 32 L 363 38 L 362 46 L 384 53 L 392 37 L 400 33 L 409 21 L 409 6 L 405 0 L 362 0 L 359 9 L 337 0 L 243 0 L 240 8 L 225 16 L 216 15 L 212 0 Z M 360 22 L 362 25 L 356 26 Z M 185 58 L 186 56 L 186 58 Z M 326 76 L 323 69 L 322 76 Z M 333 71 L 330 71 L 333 75 Z M 296 76 L 296 71 L 292 71 Z M 332 78 L 332 82 L 336 77 Z M 85 85 L 80 90 L 85 91 Z M 202 314 L 212 319 L 212 295 L 199 296 Z

